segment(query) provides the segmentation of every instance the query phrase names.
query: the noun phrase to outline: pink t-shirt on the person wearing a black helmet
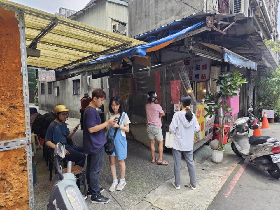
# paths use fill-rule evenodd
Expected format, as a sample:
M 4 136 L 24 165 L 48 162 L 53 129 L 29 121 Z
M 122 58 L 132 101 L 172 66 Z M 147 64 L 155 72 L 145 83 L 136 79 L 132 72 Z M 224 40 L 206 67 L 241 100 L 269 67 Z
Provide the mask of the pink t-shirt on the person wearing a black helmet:
M 161 127 L 160 114 L 164 113 L 161 106 L 155 103 L 146 104 L 147 122 L 155 127 Z

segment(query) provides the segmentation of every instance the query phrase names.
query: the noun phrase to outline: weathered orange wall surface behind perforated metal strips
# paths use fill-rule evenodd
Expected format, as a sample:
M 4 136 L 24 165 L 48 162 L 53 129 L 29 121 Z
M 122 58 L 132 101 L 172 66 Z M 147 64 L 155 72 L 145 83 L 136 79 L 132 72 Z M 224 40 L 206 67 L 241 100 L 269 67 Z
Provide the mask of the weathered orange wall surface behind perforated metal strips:
M 15 12 L 0 7 L 0 141 L 25 137 L 20 35 Z M 0 209 L 29 209 L 25 148 L 0 152 Z

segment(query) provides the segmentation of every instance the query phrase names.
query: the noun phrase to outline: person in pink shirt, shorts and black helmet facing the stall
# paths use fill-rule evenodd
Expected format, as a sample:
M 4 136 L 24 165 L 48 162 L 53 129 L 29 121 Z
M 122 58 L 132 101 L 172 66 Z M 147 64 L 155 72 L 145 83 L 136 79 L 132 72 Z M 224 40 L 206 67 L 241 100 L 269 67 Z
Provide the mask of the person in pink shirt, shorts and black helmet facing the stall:
M 166 160 L 163 160 L 163 135 L 161 129 L 161 117 L 164 116 L 164 111 L 162 107 L 157 104 L 157 94 L 155 91 L 148 92 L 148 101 L 146 104 L 146 113 L 147 113 L 147 133 L 148 137 L 151 140 L 150 143 L 150 152 L 152 155 L 151 163 L 155 163 L 157 161 L 158 165 L 168 165 Z M 158 160 L 155 157 L 155 139 L 158 143 Z

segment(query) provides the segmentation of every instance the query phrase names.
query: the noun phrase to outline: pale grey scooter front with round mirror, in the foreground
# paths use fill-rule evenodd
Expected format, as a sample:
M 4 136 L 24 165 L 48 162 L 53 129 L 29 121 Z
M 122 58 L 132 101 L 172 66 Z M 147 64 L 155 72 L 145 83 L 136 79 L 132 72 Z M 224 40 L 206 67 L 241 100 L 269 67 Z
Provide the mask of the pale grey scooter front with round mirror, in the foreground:
M 71 173 L 72 162 L 67 163 L 67 173 L 62 174 L 60 160 L 65 157 L 65 145 L 57 143 L 54 150 L 54 160 L 57 174 L 51 182 L 50 199 L 47 210 L 88 210 L 85 199 L 79 190 L 75 176 Z

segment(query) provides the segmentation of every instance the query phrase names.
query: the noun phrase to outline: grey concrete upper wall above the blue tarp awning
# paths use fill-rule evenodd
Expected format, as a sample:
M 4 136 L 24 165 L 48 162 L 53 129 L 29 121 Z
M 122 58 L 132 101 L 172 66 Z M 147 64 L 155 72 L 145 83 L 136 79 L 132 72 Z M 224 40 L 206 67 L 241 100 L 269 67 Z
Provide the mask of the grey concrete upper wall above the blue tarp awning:
M 157 29 L 176 19 L 188 17 L 194 10 L 183 2 L 167 0 L 125 0 L 128 2 L 128 36 L 133 37 Z M 203 0 L 188 1 L 197 7 Z M 197 11 L 196 11 L 197 12 Z

